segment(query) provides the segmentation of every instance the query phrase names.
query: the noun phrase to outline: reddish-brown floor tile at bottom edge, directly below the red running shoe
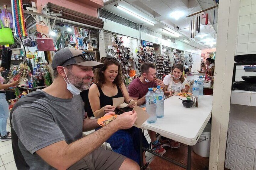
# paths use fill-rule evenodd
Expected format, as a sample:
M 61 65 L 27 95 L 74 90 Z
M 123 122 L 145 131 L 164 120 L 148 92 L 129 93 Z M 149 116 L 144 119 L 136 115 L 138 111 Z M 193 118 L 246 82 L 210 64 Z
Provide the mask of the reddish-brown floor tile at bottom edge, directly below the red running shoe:
M 178 170 L 180 167 L 156 156 L 149 164 L 152 170 Z

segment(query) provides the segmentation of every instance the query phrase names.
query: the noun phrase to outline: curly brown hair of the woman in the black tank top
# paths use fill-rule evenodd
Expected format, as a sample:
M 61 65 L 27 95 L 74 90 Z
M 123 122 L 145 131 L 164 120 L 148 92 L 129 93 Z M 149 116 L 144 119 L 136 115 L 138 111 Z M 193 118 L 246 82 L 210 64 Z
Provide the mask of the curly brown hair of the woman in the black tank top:
M 114 79 L 113 83 L 119 86 L 122 85 L 123 74 L 122 74 L 121 65 L 117 61 L 117 59 L 114 57 L 102 57 L 100 62 L 104 64 L 104 67 L 100 69 L 95 69 L 94 71 L 95 84 L 98 87 L 102 87 L 102 85 L 105 83 L 105 77 L 103 72 L 107 69 L 108 66 L 115 64 L 116 66 L 118 66 L 118 74 L 117 74 L 117 77 Z

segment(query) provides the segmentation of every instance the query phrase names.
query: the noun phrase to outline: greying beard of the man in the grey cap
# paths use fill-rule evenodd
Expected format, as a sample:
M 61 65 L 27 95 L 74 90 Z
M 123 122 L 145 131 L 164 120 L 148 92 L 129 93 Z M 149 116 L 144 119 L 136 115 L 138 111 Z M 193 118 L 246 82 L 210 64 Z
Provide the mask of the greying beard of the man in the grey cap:
M 69 82 L 81 91 L 88 90 L 91 87 L 90 82 L 84 82 L 84 79 L 91 79 L 91 76 L 79 78 L 78 76 L 75 76 L 72 72 L 67 73 L 67 76 Z

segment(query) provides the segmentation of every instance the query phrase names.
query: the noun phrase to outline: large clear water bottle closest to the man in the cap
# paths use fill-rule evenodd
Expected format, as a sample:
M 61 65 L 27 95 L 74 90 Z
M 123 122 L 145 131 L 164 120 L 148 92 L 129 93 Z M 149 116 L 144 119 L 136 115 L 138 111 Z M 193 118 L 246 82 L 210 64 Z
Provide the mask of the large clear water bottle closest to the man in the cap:
M 148 93 L 146 94 L 146 110 L 149 113 L 148 123 L 156 122 L 156 95 L 153 91 L 153 88 L 149 88 Z

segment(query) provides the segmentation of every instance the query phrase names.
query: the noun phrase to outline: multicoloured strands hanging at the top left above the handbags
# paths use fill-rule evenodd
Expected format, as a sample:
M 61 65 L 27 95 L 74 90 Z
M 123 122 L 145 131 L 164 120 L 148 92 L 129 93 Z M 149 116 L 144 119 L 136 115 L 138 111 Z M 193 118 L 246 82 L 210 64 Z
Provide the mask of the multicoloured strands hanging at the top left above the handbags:
M 11 0 L 14 36 L 27 36 L 22 0 Z

